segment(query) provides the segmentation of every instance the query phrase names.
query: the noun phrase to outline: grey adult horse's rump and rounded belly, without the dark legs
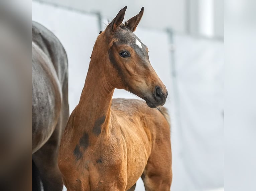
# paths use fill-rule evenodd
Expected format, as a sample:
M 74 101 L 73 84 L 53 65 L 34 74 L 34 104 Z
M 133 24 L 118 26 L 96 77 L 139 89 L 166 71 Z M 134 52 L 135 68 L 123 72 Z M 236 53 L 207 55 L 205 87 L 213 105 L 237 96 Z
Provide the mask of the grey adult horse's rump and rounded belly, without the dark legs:
M 50 31 L 33 22 L 32 152 L 37 151 L 54 131 L 67 88 L 68 62 L 63 46 Z

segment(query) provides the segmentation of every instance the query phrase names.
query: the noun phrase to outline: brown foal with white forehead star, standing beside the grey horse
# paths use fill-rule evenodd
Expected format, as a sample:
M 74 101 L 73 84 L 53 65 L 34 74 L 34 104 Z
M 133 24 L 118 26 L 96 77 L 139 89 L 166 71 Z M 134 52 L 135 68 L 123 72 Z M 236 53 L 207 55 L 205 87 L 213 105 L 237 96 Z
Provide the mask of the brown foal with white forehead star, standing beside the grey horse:
M 58 165 L 68 191 L 170 190 L 167 90 L 133 33 L 143 14 L 122 24 L 124 7 L 97 38 L 79 104 L 62 136 Z M 113 99 L 125 89 L 144 101 Z M 150 108 L 151 107 L 151 108 Z

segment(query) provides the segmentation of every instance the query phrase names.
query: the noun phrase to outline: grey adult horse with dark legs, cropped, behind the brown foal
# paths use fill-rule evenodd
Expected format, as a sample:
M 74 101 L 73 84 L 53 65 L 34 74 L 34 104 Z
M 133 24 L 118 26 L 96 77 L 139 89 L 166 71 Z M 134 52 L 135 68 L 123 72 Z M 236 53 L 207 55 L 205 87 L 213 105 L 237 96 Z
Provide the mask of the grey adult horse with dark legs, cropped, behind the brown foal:
M 59 40 L 32 23 L 33 191 L 61 191 L 58 148 L 69 118 L 68 61 Z

